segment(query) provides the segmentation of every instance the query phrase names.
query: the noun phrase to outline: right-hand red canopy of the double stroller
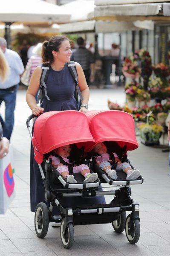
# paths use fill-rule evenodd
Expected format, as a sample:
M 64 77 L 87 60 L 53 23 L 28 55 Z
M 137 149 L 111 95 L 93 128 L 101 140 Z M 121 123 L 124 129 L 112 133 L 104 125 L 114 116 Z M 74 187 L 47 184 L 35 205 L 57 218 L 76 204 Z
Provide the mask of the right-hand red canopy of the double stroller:
M 116 110 L 95 110 L 86 112 L 86 116 L 96 144 L 115 141 L 121 148 L 126 145 L 127 150 L 138 148 L 134 120 L 129 113 Z

